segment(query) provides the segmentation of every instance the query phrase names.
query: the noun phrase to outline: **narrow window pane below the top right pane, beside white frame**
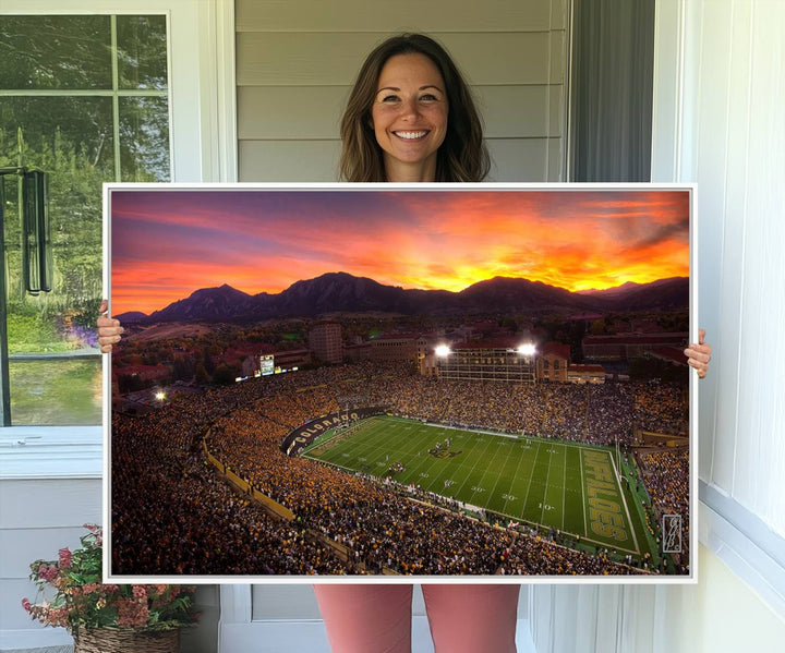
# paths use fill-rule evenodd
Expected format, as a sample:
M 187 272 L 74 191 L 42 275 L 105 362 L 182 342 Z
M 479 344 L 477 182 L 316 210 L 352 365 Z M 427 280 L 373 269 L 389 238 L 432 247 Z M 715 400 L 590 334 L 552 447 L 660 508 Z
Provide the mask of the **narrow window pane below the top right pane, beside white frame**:
M 169 113 L 165 97 L 120 98 L 122 181 L 169 181 Z

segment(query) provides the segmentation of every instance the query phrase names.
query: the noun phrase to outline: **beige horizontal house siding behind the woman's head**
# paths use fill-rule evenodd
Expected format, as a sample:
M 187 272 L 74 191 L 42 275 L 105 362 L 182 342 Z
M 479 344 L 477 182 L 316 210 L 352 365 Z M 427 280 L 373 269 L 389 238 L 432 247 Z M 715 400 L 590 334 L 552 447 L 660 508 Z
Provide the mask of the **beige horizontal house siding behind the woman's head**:
M 491 181 L 563 181 L 567 0 L 238 0 L 240 181 L 336 181 L 365 56 L 401 32 L 445 45 L 473 86 Z

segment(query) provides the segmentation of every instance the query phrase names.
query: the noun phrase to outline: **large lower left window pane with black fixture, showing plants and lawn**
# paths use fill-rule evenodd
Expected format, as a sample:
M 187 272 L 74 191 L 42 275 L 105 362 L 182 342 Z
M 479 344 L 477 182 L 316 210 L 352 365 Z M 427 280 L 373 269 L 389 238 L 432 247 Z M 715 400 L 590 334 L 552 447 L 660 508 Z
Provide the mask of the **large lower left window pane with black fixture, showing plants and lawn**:
M 0 166 L 49 173 L 55 285 L 28 294 L 22 274 L 17 180 L 3 178 L 11 419 L 20 424 L 99 424 L 100 356 L 93 325 L 101 294 L 101 182 L 112 179 L 111 98 L 5 98 Z M 17 138 L 21 130 L 22 144 Z M 95 351 L 88 360 L 13 355 Z

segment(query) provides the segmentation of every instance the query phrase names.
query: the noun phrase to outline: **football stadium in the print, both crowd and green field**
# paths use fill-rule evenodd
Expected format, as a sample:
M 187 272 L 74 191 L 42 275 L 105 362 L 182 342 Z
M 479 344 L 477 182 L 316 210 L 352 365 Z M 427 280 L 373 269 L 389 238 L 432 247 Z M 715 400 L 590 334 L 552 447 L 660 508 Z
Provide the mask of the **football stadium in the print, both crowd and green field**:
M 372 362 L 114 411 L 111 573 L 686 575 L 686 414 L 678 384 Z

